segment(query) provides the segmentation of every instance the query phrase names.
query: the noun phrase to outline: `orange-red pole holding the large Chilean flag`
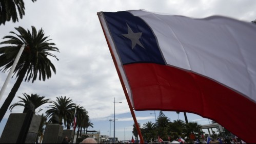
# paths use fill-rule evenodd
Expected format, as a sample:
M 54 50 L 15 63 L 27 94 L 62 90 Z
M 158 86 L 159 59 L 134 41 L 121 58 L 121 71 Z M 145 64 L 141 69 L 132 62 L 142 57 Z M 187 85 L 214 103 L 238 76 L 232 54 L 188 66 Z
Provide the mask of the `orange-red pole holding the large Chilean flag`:
M 130 99 L 129 99 L 128 92 L 127 92 L 127 90 L 126 90 L 124 80 L 123 80 L 122 75 L 121 75 L 121 72 L 120 72 L 120 70 L 119 70 L 119 68 L 118 68 L 118 66 L 117 66 L 116 59 L 115 59 L 115 57 L 114 57 L 113 51 L 112 51 L 112 49 L 111 49 L 111 45 L 110 45 L 109 40 L 108 40 L 108 38 L 107 38 L 107 36 L 106 36 L 106 32 L 105 32 L 105 30 L 104 30 L 103 23 L 102 23 L 101 18 L 100 18 L 100 16 L 103 16 L 103 15 L 102 15 L 102 13 L 97 13 L 97 15 L 98 15 L 98 17 L 99 17 L 99 19 L 100 19 L 100 23 L 101 23 L 101 26 L 102 26 L 102 30 L 103 30 L 104 36 L 105 36 L 105 38 L 106 38 L 106 40 L 107 40 L 107 44 L 108 44 L 109 51 L 110 51 L 110 54 L 111 54 L 111 56 L 112 56 L 112 59 L 113 59 L 114 65 L 115 65 L 115 69 L 116 69 L 116 71 L 117 71 L 117 75 L 119 76 L 119 79 L 120 79 L 121 85 L 122 85 L 122 87 L 123 87 L 123 90 L 124 90 L 124 93 L 125 93 L 125 97 L 126 97 L 126 100 L 127 100 L 128 106 L 129 106 L 129 109 L 130 109 L 130 111 L 131 111 L 131 115 L 132 115 L 132 118 L 133 118 L 135 127 L 136 127 L 136 129 L 137 129 L 138 134 L 139 134 L 140 143 L 144 143 L 144 140 L 143 140 L 143 137 L 142 137 L 142 134 L 141 134 L 141 129 L 140 129 L 140 127 L 139 127 L 139 124 L 137 123 L 137 119 L 136 119 L 135 113 L 134 113 L 134 111 L 133 111 L 133 108 L 132 108 L 132 105 L 131 105 L 131 101 L 130 101 Z

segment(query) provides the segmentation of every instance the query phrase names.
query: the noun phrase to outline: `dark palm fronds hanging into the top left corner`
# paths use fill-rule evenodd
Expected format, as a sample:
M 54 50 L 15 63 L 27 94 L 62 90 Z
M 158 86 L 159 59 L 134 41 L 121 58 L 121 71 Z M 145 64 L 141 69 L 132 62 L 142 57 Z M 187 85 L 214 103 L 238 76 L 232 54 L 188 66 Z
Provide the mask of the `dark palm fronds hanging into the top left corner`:
M 32 0 L 35 2 L 36 0 Z M 1 0 L 0 1 L 0 25 L 3 23 L 5 25 L 6 21 L 12 22 L 18 21 L 19 18 L 22 19 L 23 15 L 25 15 L 25 5 L 23 0 Z

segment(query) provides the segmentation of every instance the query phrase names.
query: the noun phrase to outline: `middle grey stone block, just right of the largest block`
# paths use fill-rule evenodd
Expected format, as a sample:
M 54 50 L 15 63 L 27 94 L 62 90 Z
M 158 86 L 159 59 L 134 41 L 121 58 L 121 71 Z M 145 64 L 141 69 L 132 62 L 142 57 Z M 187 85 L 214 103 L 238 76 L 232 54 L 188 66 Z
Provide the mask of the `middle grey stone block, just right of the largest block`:
M 46 125 L 42 143 L 62 143 L 62 135 L 63 126 L 58 124 Z

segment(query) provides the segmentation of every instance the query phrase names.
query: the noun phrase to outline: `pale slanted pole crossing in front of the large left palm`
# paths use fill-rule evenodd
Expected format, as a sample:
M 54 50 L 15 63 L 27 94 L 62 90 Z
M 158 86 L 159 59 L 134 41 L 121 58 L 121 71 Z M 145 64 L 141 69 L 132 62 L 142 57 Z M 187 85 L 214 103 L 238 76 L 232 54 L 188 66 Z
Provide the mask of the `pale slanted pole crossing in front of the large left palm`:
M 17 54 L 17 56 L 16 56 L 16 58 L 15 58 L 13 64 L 12 64 L 12 68 L 11 68 L 11 70 L 10 70 L 10 72 L 9 72 L 9 74 L 8 74 L 8 76 L 7 76 L 7 78 L 6 78 L 6 80 L 5 80 L 5 83 L 4 83 L 4 85 L 3 85 L 3 87 L 2 87 L 2 89 L 1 89 L 1 91 L 0 91 L 0 101 L 1 101 L 1 99 L 2 99 L 2 97 L 3 97 L 3 94 L 4 94 L 4 92 L 5 92 L 5 89 L 6 89 L 8 83 L 9 83 L 9 81 L 10 81 L 10 79 L 11 79 L 12 73 L 13 73 L 13 71 L 14 71 L 14 69 L 15 69 L 17 63 L 18 63 L 19 58 L 20 58 L 21 55 L 22 55 L 22 52 L 23 52 L 24 48 L 25 48 L 25 43 L 22 45 L 21 49 L 19 49 L 18 54 Z

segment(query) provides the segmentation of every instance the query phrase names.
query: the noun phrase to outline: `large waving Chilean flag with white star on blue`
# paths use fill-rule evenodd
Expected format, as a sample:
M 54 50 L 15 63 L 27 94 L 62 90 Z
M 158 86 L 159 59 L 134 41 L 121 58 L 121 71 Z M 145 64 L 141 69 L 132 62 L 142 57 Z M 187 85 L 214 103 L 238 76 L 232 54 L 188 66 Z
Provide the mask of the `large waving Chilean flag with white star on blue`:
M 256 142 L 256 25 L 142 10 L 98 15 L 135 110 L 199 114 Z

